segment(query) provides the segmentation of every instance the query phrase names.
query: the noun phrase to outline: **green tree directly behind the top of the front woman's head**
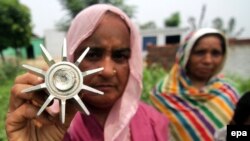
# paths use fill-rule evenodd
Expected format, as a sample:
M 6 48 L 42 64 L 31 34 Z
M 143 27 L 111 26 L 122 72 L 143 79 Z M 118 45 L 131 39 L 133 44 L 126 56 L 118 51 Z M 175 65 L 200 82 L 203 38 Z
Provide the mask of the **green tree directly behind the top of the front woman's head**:
M 121 8 L 129 17 L 133 17 L 135 7 L 126 5 L 123 0 L 60 0 L 68 16 L 57 23 L 59 30 L 67 31 L 70 21 L 84 8 L 97 3 L 110 3 Z

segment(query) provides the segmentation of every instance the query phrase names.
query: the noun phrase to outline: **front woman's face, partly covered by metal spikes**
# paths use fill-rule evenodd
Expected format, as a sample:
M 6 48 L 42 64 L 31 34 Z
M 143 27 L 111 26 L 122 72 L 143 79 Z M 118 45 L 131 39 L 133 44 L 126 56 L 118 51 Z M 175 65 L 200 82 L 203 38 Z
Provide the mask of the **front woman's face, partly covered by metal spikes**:
M 104 70 L 86 76 L 84 84 L 104 92 L 104 95 L 83 91 L 82 99 L 95 108 L 110 109 L 122 96 L 129 77 L 129 29 L 120 17 L 106 13 L 94 33 L 78 47 L 75 59 L 86 47 L 90 47 L 90 50 L 80 69 L 85 71 L 103 67 Z

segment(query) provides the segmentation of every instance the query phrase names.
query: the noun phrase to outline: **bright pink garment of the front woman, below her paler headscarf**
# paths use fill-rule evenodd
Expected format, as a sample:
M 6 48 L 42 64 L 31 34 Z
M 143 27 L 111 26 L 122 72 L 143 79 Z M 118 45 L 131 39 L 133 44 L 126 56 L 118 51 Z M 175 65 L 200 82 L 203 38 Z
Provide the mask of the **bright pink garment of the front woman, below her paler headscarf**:
M 70 133 L 67 133 L 63 141 L 103 141 L 103 128 L 94 117 L 77 113 L 72 124 Z M 168 139 L 168 121 L 155 109 L 139 103 L 136 114 L 129 124 L 130 136 L 118 136 L 116 140 L 132 141 L 166 141 Z M 85 127 L 85 128 L 84 128 Z

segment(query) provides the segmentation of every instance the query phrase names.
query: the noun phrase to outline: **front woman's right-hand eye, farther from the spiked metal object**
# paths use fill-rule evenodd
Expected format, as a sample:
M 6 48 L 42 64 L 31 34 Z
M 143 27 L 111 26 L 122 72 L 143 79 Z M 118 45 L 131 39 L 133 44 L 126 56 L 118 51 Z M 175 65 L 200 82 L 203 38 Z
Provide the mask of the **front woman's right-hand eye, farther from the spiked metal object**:
M 130 58 L 130 49 L 119 49 L 112 52 L 112 59 L 117 63 L 125 63 Z

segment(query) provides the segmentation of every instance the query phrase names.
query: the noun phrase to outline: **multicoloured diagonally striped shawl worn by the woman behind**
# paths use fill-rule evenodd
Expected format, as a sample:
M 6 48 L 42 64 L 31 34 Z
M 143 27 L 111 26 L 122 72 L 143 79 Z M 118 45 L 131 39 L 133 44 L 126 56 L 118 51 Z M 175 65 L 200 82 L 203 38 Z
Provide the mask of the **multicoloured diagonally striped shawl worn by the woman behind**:
M 202 89 L 193 87 L 185 67 L 182 67 L 186 64 L 183 63 L 186 47 L 187 44 L 179 49 L 169 75 L 154 87 L 150 98 L 153 105 L 170 119 L 175 140 L 212 141 L 215 130 L 230 121 L 239 96 L 216 76 Z

